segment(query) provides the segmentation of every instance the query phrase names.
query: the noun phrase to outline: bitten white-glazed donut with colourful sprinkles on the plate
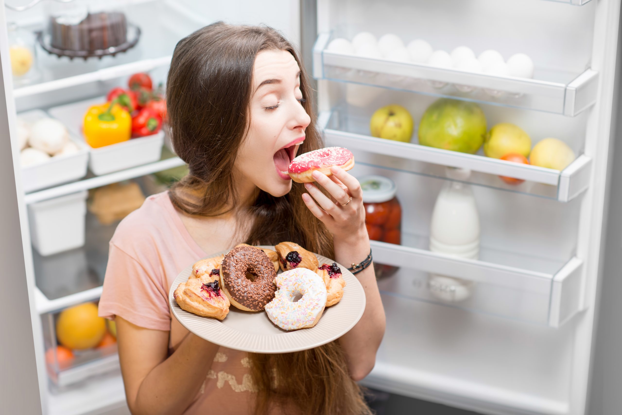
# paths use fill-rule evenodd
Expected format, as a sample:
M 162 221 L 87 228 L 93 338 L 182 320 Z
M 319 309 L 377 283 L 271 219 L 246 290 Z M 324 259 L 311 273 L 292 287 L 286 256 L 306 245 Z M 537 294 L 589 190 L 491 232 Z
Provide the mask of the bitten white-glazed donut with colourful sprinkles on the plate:
M 274 283 L 278 290 L 265 308 L 274 324 L 284 330 L 298 330 L 320 321 L 326 306 L 326 285 L 319 275 L 307 268 L 294 268 L 277 275 Z

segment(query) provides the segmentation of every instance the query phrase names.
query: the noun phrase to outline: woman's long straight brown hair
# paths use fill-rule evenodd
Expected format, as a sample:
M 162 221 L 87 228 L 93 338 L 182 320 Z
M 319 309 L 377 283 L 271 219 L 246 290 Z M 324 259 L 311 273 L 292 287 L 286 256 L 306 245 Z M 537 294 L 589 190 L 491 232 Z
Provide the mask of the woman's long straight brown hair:
M 167 80 L 173 146 L 190 170 L 169 196 L 186 214 L 218 216 L 238 206 L 231 166 L 248 131 L 254 62 L 262 50 L 286 50 L 298 62 L 300 90 L 307 99 L 302 105 L 311 117 L 299 153 L 323 147 L 315 129 L 309 80 L 292 44 L 270 27 L 223 22 L 203 27 L 177 43 Z M 253 223 L 248 237 L 239 242 L 274 245 L 289 240 L 332 258 L 332 235 L 304 205 L 302 193 L 300 183 L 279 198 L 258 189 L 249 210 Z M 274 405 L 304 415 L 370 413 L 338 342 L 250 357 L 258 388 L 257 415 L 267 414 Z

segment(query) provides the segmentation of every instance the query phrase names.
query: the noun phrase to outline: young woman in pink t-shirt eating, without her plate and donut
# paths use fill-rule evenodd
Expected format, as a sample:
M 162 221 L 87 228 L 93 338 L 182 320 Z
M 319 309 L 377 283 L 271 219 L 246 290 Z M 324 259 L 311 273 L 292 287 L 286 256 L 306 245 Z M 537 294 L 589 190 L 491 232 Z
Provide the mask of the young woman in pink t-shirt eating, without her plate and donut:
M 356 274 L 366 294 L 358 324 L 304 352 L 211 344 L 172 318 L 167 301 L 183 268 L 240 242 L 289 240 L 342 264 L 366 258 L 358 181 L 340 168 L 317 173 L 320 187 L 287 175 L 297 153 L 323 147 L 310 96 L 294 48 L 275 30 L 219 22 L 177 44 L 167 107 L 190 174 L 119 224 L 99 305 L 116 320 L 132 414 L 369 413 L 355 381 L 373 368 L 384 333 L 373 266 Z

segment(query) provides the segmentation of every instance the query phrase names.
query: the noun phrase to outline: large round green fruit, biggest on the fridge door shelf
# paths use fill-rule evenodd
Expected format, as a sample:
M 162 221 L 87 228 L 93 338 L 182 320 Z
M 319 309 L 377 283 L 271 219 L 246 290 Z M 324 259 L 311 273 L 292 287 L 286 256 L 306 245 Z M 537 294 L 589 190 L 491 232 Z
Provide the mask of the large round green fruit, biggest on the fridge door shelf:
M 475 153 L 486 134 L 486 116 L 475 103 L 441 98 L 419 122 L 419 144 L 461 153 Z

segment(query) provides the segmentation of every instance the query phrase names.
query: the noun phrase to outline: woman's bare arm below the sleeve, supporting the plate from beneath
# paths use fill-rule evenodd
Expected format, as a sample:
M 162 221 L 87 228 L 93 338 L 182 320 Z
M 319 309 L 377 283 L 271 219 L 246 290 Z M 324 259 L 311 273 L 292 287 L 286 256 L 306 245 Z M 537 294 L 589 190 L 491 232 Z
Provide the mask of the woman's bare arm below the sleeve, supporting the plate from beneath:
M 116 317 L 119 360 L 134 415 L 178 415 L 192 403 L 218 345 L 192 333 L 167 357 L 169 332 L 144 329 Z

